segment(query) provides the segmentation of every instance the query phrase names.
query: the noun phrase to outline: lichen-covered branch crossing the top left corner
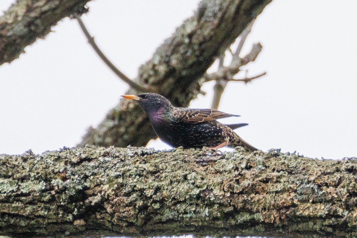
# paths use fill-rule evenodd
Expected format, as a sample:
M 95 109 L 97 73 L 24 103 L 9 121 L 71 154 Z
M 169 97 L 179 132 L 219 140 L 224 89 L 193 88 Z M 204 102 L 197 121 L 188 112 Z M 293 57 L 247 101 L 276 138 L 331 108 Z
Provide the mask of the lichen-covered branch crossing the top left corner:
M 82 14 L 90 0 L 18 0 L 0 16 L 0 65 L 17 59 L 24 48 L 44 38 L 71 14 Z

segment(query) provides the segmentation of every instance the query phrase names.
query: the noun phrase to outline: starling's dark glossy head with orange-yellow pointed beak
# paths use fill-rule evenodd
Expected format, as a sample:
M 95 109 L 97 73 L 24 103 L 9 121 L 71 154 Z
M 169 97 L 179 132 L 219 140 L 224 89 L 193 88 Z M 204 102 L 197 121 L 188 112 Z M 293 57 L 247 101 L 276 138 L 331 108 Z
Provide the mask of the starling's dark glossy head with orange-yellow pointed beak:
M 142 93 L 138 95 L 121 95 L 123 98 L 132 99 L 139 103 L 149 117 L 157 117 L 174 109 L 168 99 L 156 93 Z

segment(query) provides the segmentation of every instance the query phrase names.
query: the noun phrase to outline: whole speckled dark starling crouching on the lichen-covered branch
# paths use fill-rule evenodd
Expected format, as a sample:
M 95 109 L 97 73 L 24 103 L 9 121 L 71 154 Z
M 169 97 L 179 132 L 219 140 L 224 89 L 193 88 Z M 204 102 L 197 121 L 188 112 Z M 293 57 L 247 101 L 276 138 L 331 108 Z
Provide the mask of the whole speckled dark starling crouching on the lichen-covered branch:
M 202 148 L 206 146 L 218 149 L 222 146 L 235 148 L 242 146 L 247 151 L 256 151 L 246 143 L 233 129 L 246 123 L 223 125 L 219 118 L 239 117 L 214 109 L 175 108 L 169 100 L 156 93 L 122 95 L 121 97 L 137 100 L 149 116 L 157 136 L 172 147 Z

